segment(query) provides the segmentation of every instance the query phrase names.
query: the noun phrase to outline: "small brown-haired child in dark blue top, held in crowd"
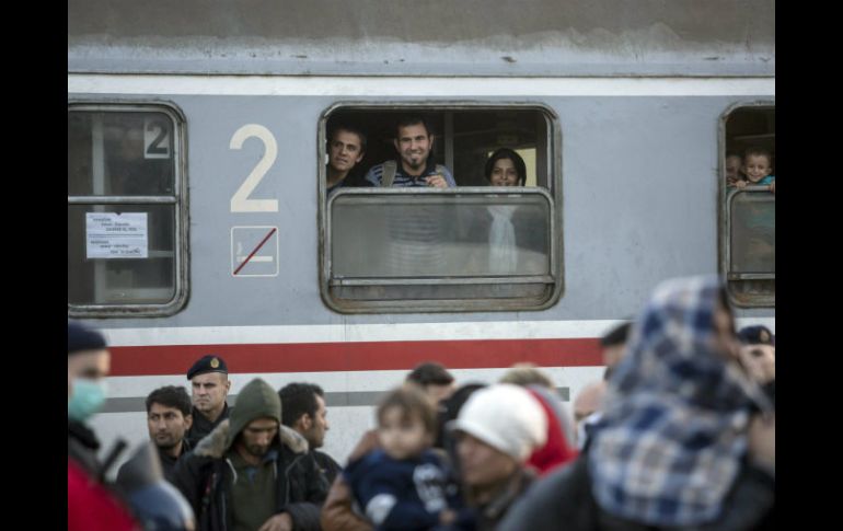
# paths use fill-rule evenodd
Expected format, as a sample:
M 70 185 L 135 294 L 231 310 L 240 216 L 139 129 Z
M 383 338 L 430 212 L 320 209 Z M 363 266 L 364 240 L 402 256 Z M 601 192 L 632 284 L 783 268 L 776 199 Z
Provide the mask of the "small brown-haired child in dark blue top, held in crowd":
M 390 392 L 378 407 L 381 448 L 348 464 L 343 472 L 357 503 L 377 530 L 446 530 L 470 526 L 458 505 L 455 485 L 430 450 L 436 409 L 412 384 Z

